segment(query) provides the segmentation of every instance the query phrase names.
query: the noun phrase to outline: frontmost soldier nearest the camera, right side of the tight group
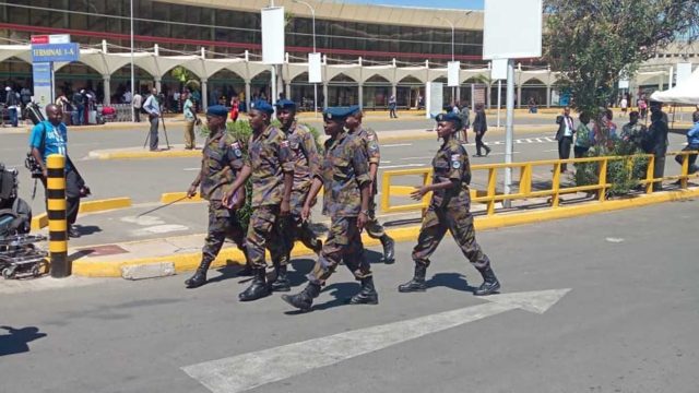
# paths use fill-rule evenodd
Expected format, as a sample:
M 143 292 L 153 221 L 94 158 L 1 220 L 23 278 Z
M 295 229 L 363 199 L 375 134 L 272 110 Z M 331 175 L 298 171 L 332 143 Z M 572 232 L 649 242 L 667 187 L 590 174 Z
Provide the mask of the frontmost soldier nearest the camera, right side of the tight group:
M 362 141 L 344 130 L 345 119 L 352 108 L 328 108 L 323 111 L 323 128 L 330 136 L 321 171 L 315 174 L 313 182 L 304 203 L 301 217 L 310 215 L 311 201 L 323 187 L 323 214 L 331 217 L 330 233 L 312 272 L 308 285 L 297 295 L 282 295 L 289 305 L 308 311 L 320 288 L 335 271 L 337 264 L 345 265 L 362 282 L 362 290 L 350 299 L 352 305 L 377 305 L 379 296 L 374 288 L 371 267 L 364 258 L 360 231 L 369 221 L 369 168 Z

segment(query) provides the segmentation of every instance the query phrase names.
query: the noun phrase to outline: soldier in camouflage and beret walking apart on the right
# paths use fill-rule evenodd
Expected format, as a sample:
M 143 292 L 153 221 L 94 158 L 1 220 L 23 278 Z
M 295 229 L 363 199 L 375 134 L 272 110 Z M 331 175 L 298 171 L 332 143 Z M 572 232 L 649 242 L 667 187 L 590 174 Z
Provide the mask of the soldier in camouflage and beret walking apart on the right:
M 410 282 L 398 287 L 399 291 L 424 291 L 425 273 L 429 266 L 429 257 L 445 237 L 447 229 L 461 248 L 463 254 L 483 275 L 484 283 L 474 295 L 483 296 L 496 293 L 500 288 L 488 257 L 476 243 L 473 228 L 473 215 L 469 212 L 471 196 L 471 167 L 466 150 L 457 141 L 454 133 L 461 129 L 461 120 L 455 114 L 440 114 L 437 116 L 437 133 L 443 139 L 443 144 L 433 159 L 433 183 L 418 187 L 411 196 L 420 201 L 431 191 L 433 198 L 417 238 L 417 246 L 413 249 L 415 261 L 415 276 Z

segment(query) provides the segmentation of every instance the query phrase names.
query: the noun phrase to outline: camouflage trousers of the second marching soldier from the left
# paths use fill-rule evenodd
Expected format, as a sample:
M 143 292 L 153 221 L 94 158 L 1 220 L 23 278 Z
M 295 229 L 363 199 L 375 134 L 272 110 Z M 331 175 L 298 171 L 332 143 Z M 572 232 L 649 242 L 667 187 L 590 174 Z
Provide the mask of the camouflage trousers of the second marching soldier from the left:
M 266 267 L 264 250 L 270 250 L 272 261 L 285 260 L 284 242 L 280 239 L 280 223 L 279 205 L 259 206 L 252 211 L 246 239 L 250 267 Z

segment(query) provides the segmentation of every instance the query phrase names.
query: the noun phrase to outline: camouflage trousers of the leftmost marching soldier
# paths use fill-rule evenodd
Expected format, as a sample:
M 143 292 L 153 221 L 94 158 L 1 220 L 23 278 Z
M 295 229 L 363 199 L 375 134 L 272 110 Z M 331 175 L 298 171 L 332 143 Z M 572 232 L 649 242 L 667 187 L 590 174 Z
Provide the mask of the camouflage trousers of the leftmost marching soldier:
M 230 238 L 238 249 L 245 252 L 245 233 L 236 213 L 221 204 L 221 201 L 209 202 L 209 230 L 202 248 L 202 264 L 211 264 L 216 259 L 226 237 Z

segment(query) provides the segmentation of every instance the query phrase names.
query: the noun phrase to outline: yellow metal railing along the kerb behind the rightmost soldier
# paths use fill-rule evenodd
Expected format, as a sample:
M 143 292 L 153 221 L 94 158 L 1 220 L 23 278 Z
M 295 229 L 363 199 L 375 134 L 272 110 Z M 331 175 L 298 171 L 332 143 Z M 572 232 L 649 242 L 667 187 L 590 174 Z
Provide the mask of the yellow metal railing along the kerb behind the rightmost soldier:
M 559 196 L 562 194 L 577 193 L 577 192 L 593 192 L 596 193 L 596 199 L 600 202 L 606 200 L 606 191 L 612 187 L 607 182 L 607 168 L 609 162 L 615 160 L 628 160 L 633 157 L 648 158 L 648 170 L 645 178 L 639 180 L 640 184 L 644 186 L 647 193 L 653 192 L 653 183 L 663 180 L 679 180 L 680 188 L 687 188 L 687 181 L 690 178 L 699 177 L 699 172 L 688 175 L 689 162 L 688 156 L 690 154 L 697 154 L 697 152 L 671 152 L 667 156 L 683 156 L 683 164 L 680 175 L 664 176 L 662 178 L 653 178 L 653 167 L 655 163 L 655 156 L 652 154 L 642 154 L 635 156 L 606 156 L 606 157 L 584 157 L 584 158 L 569 158 L 569 159 L 546 159 L 535 162 L 522 162 L 511 164 L 487 164 L 487 165 L 472 165 L 472 175 L 478 171 L 487 171 L 487 182 L 485 192 L 477 192 L 475 195 L 472 190 L 472 202 L 484 203 L 487 205 L 487 214 L 495 214 L 495 205 L 498 202 L 506 200 L 525 200 L 531 198 L 550 198 L 552 207 L 558 207 Z M 562 164 L 580 164 L 580 163 L 599 163 L 597 165 L 597 183 L 588 186 L 576 187 L 560 187 L 560 168 Z M 546 190 L 532 191 L 532 179 L 535 167 L 553 167 L 552 170 L 552 188 Z M 510 194 L 497 193 L 497 174 L 498 170 L 511 168 L 512 171 L 519 170 L 519 188 L 517 192 Z M 423 200 L 418 203 L 391 205 L 391 180 L 402 176 L 422 176 L 422 184 L 428 184 L 431 181 L 433 168 L 416 168 L 416 169 L 402 169 L 402 170 L 386 170 L 383 171 L 381 182 L 381 211 L 383 213 L 398 213 L 398 212 L 413 212 L 427 209 L 429 205 L 430 193 L 425 194 Z M 472 176 L 473 177 L 473 176 Z

